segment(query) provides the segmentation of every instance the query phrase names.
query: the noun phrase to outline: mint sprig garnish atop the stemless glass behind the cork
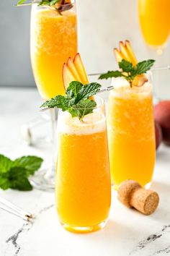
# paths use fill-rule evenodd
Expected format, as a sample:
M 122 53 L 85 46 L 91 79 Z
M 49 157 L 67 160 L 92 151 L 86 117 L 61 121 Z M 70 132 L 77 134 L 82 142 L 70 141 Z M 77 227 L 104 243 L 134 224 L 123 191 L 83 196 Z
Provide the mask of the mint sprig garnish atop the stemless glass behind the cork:
M 155 61 L 153 59 L 148 59 L 146 61 L 138 62 L 138 64 L 134 67 L 130 61 L 122 59 L 122 61 L 118 63 L 120 70 L 108 71 L 105 74 L 101 74 L 99 79 L 124 77 L 126 80 L 128 80 L 131 86 L 135 77 L 139 74 L 145 74 L 148 70 L 151 69 L 151 67 L 153 67 L 154 62 Z

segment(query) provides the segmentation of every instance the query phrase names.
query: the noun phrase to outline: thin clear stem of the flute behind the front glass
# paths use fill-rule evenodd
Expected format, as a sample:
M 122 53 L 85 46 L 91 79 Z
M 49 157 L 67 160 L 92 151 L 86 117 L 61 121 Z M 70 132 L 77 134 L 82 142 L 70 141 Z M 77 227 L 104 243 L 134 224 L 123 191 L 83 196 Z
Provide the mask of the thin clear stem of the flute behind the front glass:
M 55 171 L 56 171 L 56 119 L 58 110 L 55 108 L 50 108 L 50 122 L 51 122 L 51 153 L 52 153 L 52 159 L 50 168 L 45 174 L 45 177 L 48 179 L 53 179 L 55 182 Z

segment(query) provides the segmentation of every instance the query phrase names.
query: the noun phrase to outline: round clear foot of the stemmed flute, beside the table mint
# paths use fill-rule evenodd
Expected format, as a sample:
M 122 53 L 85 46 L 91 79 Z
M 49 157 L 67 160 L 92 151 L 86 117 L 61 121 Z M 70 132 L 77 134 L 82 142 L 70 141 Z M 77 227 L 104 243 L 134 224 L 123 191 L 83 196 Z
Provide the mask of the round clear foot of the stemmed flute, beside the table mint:
M 55 171 L 42 169 L 30 177 L 30 183 L 35 189 L 53 192 L 55 189 Z

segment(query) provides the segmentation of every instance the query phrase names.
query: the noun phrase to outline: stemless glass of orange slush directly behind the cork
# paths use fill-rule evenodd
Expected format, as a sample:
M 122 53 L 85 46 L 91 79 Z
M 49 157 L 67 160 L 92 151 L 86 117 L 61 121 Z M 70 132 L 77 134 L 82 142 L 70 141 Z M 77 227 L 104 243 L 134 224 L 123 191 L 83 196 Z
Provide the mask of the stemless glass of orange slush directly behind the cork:
M 109 94 L 108 139 L 112 184 L 126 179 L 148 187 L 153 176 L 156 142 L 151 74 L 141 87 L 116 78 Z

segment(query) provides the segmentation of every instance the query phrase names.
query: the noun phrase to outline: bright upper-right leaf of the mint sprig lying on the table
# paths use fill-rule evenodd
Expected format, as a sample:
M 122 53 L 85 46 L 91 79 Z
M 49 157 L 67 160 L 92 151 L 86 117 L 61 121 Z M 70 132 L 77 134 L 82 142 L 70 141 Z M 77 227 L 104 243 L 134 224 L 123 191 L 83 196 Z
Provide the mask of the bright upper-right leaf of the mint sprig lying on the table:
M 23 167 L 27 170 L 27 176 L 35 174 L 35 171 L 37 171 L 41 164 L 42 164 L 42 158 L 38 158 L 34 155 L 27 155 L 22 156 L 22 158 L 17 158 L 14 163 L 13 167 Z

